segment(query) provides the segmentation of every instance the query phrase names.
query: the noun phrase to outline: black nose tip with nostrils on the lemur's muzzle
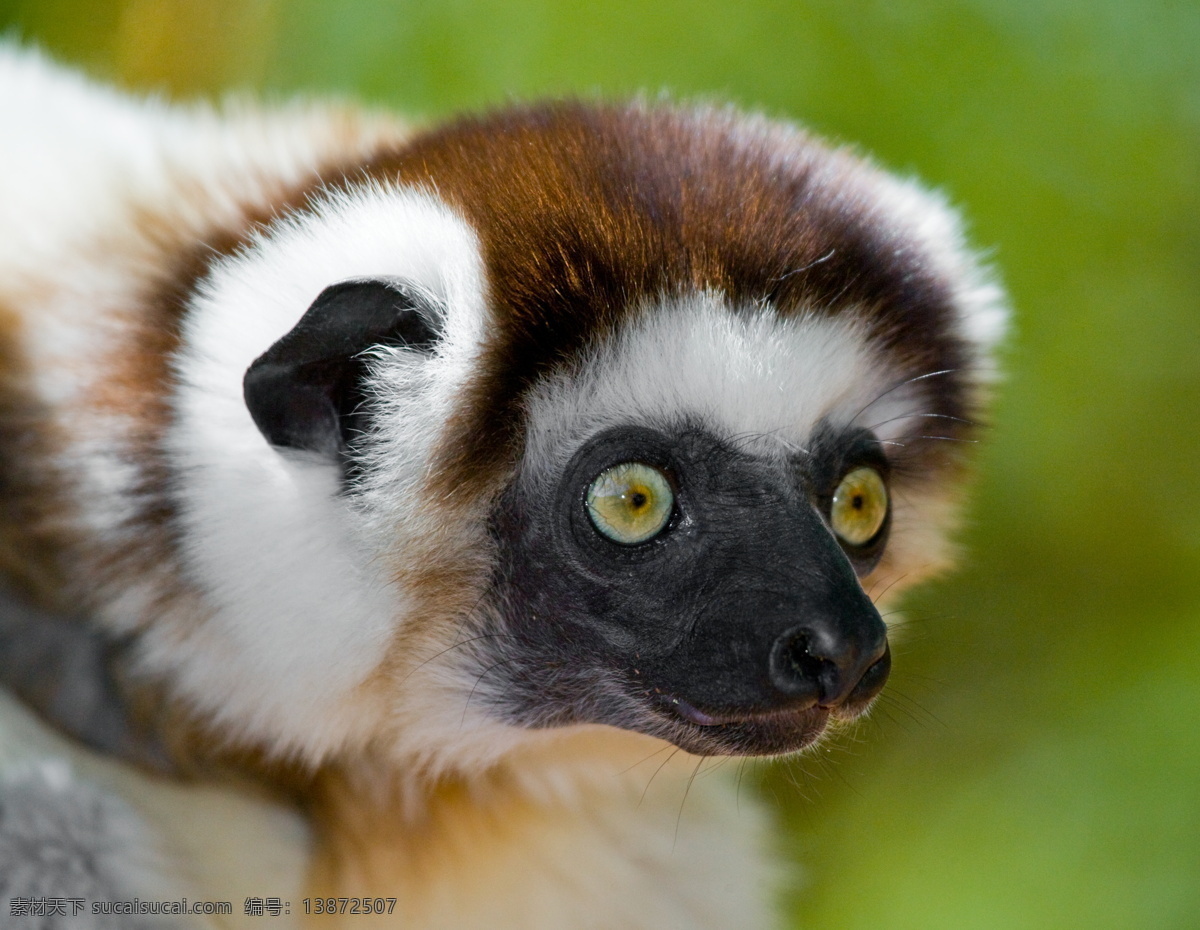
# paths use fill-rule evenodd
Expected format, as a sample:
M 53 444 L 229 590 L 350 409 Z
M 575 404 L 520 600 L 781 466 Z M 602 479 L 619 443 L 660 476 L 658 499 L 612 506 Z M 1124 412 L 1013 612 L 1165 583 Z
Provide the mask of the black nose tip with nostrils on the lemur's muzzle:
M 859 638 L 820 623 L 793 626 L 775 640 L 769 661 L 772 684 L 782 695 L 824 708 L 852 695 L 856 701 L 875 697 L 892 668 L 886 631 Z

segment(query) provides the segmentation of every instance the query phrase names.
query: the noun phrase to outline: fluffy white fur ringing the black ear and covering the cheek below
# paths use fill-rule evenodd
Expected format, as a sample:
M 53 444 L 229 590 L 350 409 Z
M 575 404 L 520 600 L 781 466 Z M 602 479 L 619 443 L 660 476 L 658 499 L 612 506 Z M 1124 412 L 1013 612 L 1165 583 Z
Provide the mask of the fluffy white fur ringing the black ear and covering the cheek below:
M 432 395 L 452 394 L 481 318 L 474 235 L 437 198 L 370 188 L 313 212 L 222 263 L 192 307 L 169 454 L 185 476 L 186 570 L 211 616 L 185 648 L 163 637 L 148 649 L 223 726 L 310 758 L 377 725 L 344 698 L 379 661 L 407 604 L 376 571 L 374 534 L 338 497 L 336 467 L 271 448 L 246 409 L 242 376 L 325 287 L 347 278 L 400 276 L 445 308 L 448 338 L 426 372 Z M 430 426 L 436 436 L 440 424 Z M 422 464 L 410 454 L 394 468 Z

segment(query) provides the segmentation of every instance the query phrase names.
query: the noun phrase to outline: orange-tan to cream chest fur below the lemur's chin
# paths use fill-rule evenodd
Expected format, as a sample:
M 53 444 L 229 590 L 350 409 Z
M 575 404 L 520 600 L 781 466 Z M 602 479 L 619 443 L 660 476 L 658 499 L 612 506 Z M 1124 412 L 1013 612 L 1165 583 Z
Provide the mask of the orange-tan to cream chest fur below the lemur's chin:
M 761 925 L 764 916 L 749 895 L 776 876 L 746 875 L 743 863 L 718 852 L 721 842 L 706 839 L 722 829 L 727 814 L 720 811 L 733 788 L 697 776 L 702 762 L 644 737 L 587 727 L 514 754 L 474 779 L 428 787 L 415 806 L 386 780 L 325 776 L 316 793 L 320 845 L 310 892 L 394 898 L 396 910 L 390 917 L 323 916 L 313 924 Z M 740 833 L 756 822 L 749 803 L 739 820 Z M 598 872 L 587 888 L 620 889 L 624 900 L 607 890 L 589 896 L 595 892 L 576 880 L 577 863 Z M 680 874 L 688 876 L 683 882 Z M 714 906 L 720 887 L 728 890 Z M 679 914 L 686 916 L 683 925 L 674 923 Z

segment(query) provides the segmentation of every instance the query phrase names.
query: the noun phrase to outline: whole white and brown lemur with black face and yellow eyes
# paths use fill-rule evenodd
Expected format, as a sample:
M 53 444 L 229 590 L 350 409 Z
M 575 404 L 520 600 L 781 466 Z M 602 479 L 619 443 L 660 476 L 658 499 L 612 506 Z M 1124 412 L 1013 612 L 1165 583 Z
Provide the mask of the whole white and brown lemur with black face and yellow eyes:
M 414 131 L 12 46 L 0 126 L 0 892 L 774 925 L 692 776 L 864 714 L 950 556 L 1006 310 L 943 199 L 726 107 Z

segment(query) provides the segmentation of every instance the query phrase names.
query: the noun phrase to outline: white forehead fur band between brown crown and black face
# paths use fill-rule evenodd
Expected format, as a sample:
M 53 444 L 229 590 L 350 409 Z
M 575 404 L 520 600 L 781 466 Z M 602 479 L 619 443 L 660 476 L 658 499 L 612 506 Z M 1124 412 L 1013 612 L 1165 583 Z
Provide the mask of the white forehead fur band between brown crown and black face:
M 540 385 L 528 403 L 526 458 L 533 473 L 559 473 L 601 430 L 688 419 L 751 451 L 794 454 L 822 418 L 853 419 L 893 378 L 853 314 L 736 314 L 719 294 L 697 294 L 646 308 Z

